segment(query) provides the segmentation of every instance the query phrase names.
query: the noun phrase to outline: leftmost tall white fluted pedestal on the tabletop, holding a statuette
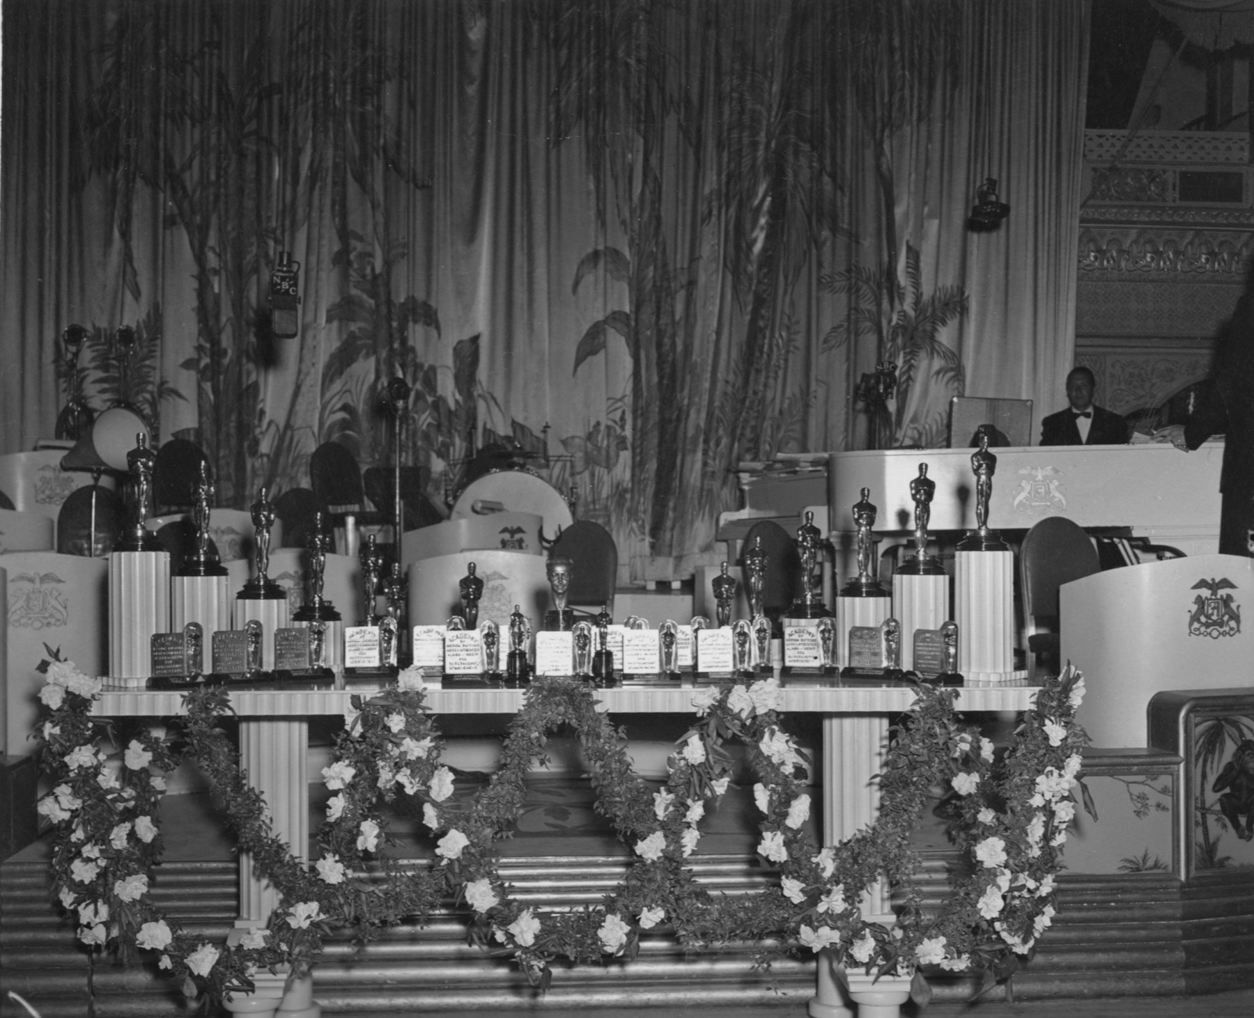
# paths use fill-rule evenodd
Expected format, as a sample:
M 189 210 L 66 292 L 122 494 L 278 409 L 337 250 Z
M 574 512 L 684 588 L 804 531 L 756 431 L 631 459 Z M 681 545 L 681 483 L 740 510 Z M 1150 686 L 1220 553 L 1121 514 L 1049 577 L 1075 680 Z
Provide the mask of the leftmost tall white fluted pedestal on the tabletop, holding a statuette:
M 153 633 L 169 632 L 169 553 L 109 554 L 109 678 L 143 688 Z

